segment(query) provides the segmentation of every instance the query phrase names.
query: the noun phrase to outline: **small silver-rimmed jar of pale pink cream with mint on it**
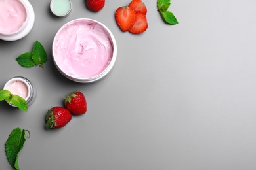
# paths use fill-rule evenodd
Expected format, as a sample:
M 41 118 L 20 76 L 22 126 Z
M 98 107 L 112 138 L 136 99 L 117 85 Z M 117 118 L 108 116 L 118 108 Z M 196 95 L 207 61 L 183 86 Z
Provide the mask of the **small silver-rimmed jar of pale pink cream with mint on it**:
M 8 80 L 3 89 L 9 90 L 12 94 L 20 95 L 20 97 L 26 100 L 28 106 L 32 105 L 37 96 L 35 85 L 22 76 L 15 76 Z M 9 105 L 14 106 L 12 103 L 9 103 Z

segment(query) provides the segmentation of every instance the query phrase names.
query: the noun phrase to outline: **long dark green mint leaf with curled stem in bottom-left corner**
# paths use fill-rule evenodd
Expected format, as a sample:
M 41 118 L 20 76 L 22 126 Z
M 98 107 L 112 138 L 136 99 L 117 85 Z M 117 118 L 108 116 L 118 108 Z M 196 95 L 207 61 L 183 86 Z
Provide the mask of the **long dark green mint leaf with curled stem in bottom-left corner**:
M 28 131 L 29 133 L 29 131 Z M 10 165 L 16 170 L 20 169 L 18 165 L 18 154 L 24 147 L 26 141 L 25 130 L 20 129 L 19 127 L 12 130 L 6 143 L 5 143 L 5 152 L 7 155 L 7 160 Z

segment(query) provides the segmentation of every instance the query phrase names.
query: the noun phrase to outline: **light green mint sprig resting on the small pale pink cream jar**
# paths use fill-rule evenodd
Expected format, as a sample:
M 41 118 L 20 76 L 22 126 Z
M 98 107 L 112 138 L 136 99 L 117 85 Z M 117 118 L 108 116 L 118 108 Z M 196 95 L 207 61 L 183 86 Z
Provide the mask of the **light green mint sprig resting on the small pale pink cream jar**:
M 28 110 L 28 103 L 19 95 L 12 94 L 9 90 L 0 90 L 0 101 L 6 100 L 7 103 L 12 103 L 22 111 Z

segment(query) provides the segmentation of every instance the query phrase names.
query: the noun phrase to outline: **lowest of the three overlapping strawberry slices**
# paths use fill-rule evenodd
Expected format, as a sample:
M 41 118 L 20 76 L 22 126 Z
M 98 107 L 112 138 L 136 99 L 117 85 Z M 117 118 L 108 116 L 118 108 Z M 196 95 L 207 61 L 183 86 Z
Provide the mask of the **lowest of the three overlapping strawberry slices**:
M 136 12 L 135 24 L 128 30 L 130 33 L 142 33 L 148 29 L 148 21 L 142 12 Z

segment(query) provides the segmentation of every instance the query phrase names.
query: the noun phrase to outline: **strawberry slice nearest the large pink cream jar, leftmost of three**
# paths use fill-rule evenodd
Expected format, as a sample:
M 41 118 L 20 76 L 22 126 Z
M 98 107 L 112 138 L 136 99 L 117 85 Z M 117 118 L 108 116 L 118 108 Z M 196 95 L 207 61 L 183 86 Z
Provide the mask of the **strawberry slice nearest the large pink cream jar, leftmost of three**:
M 115 16 L 122 31 L 127 31 L 135 23 L 135 11 L 128 6 L 119 7 Z

